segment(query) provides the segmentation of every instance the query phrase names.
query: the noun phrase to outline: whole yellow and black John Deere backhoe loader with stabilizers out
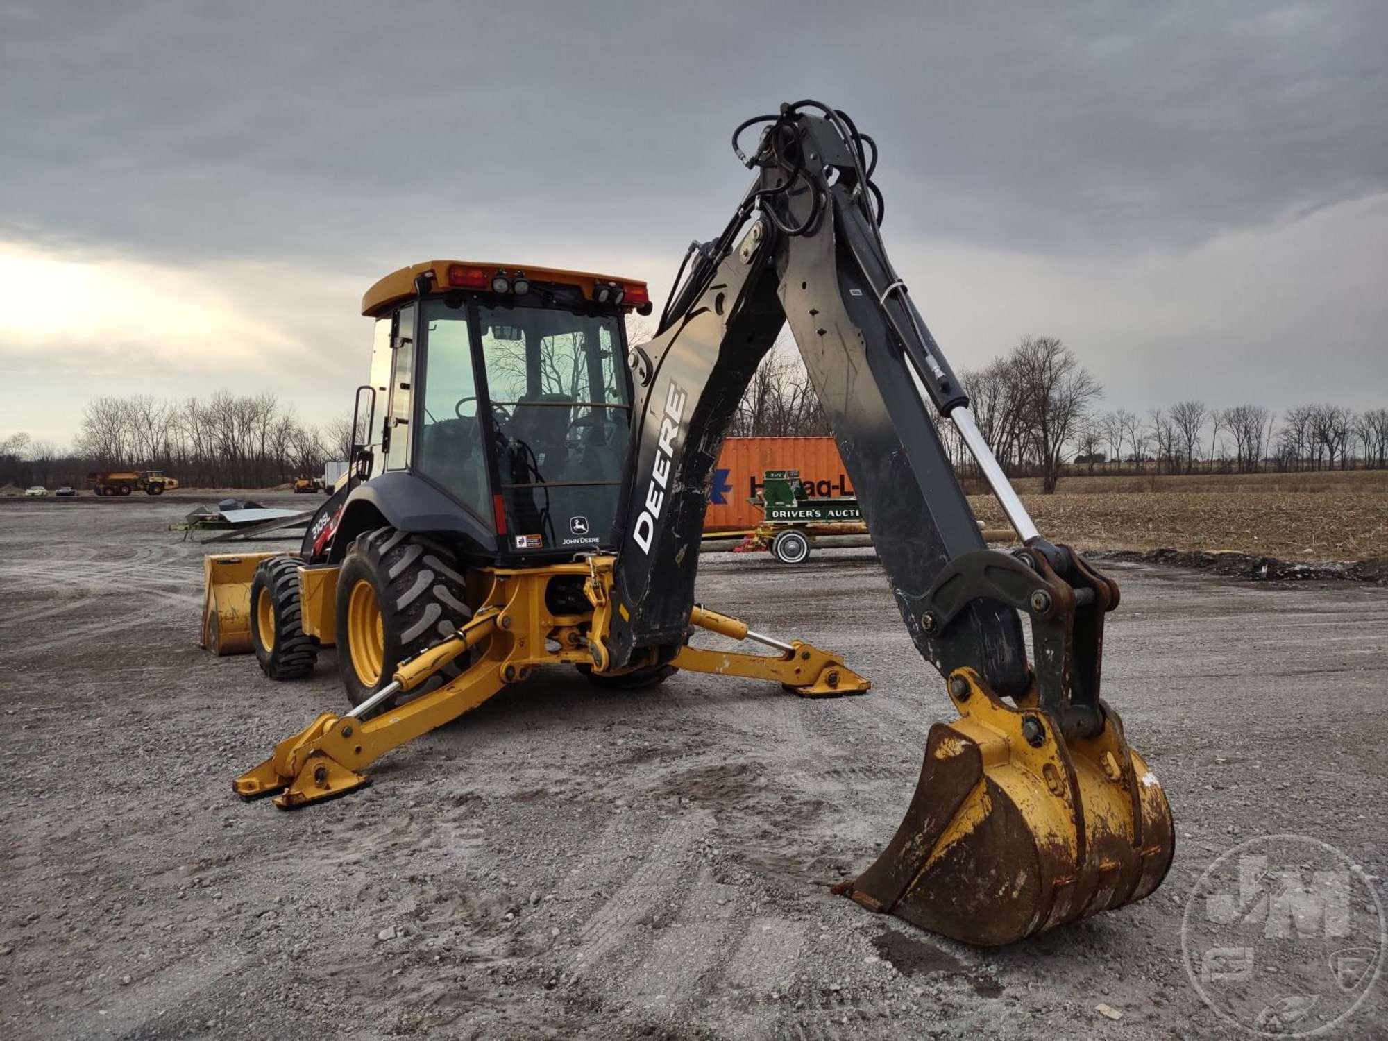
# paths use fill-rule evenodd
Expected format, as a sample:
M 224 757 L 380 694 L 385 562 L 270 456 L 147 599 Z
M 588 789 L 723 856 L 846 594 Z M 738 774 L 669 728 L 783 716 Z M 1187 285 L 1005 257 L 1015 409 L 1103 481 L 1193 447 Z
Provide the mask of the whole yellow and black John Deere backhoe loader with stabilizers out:
M 351 476 L 300 552 L 207 558 L 203 625 L 205 647 L 254 651 L 275 679 L 336 644 L 353 708 L 280 741 L 235 791 L 282 808 L 350 793 L 384 752 L 540 666 L 615 687 L 686 669 L 866 691 L 841 657 L 694 602 L 711 471 L 788 323 L 959 716 L 930 729 L 895 837 L 836 891 L 981 945 L 1146 897 L 1173 826 L 1099 697 L 1119 589 L 1037 532 L 980 436 L 887 257 L 876 144 L 805 100 L 744 122 L 733 149 L 752 183 L 690 247 L 648 343 L 626 343 L 623 315 L 652 311 L 633 279 L 432 260 L 368 290 Z M 931 412 L 969 446 L 1015 552 L 987 548 Z M 694 647 L 700 629 L 772 652 Z

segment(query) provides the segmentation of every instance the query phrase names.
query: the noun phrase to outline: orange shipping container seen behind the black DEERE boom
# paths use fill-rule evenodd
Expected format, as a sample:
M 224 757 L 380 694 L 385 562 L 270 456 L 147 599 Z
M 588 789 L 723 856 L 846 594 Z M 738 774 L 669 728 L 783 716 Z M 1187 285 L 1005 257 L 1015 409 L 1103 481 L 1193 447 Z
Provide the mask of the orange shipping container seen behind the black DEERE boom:
M 755 527 L 762 511 L 747 500 L 766 471 L 799 471 L 813 496 L 851 496 L 854 486 L 833 437 L 729 437 L 713 469 L 704 530 Z

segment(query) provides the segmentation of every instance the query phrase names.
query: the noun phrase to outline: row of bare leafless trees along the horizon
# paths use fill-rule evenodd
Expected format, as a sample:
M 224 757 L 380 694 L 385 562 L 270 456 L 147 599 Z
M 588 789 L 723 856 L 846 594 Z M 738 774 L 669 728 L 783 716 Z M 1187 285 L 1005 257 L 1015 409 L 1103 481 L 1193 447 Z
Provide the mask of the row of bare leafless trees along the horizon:
M 647 339 L 633 330 L 633 340 Z M 1187 400 L 1138 415 L 1099 411 L 1103 389 L 1052 336 L 1026 336 L 981 369 L 963 371 L 979 430 L 1010 476 L 1053 491 L 1065 472 L 1252 473 L 1267 469 L 1388 469 L 1388 408 L 1356 412 L 1306 404 L 1283 415 L 1264 405 L 1209 407 Z M 956 469 L 973 459 L 948 421 L 940 437 Z M 737 437 L 813 437 L 829 419 L 797 354 L 770 351 L 729 432 Z M 167 401 L 147 394 L 87 403 L 74 447 L 18 433 L 0 439 L 0 484 L 68 483 L 89 471 L 162 469 L 194 487 L 266 487 L 346 459 L 351 421 L 304 423 L 275 394 Z

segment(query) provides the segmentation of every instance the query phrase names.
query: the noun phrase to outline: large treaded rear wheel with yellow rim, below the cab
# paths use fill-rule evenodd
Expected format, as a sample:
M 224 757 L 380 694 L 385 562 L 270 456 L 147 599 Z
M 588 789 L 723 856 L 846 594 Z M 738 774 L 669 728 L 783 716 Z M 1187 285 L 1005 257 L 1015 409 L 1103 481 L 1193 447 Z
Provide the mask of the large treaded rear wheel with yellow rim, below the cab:
M 337 668 L 347 700 L 359 705 L 390 683 L 401 661 L 452 636 L 471 618 L 464 576 L 447 548 L 394 527 L 357 536 L 337 573 Z M 471 659 L 454 659 L 416 693 L 443 686 Z M 376 712 L 394 704 L 391 698 Z

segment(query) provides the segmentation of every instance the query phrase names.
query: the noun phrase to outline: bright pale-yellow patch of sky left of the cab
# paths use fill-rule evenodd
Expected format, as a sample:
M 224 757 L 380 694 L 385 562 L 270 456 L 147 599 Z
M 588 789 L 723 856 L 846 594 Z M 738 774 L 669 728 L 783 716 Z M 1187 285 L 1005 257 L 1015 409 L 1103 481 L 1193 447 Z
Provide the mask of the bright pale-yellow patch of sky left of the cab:
M 67 443 L 99 394 L 279 393 L 315 422 L 350 407 L 369 328 L 354 272 L 182 266 L 0 242 L 4 429 Z

